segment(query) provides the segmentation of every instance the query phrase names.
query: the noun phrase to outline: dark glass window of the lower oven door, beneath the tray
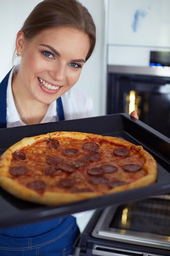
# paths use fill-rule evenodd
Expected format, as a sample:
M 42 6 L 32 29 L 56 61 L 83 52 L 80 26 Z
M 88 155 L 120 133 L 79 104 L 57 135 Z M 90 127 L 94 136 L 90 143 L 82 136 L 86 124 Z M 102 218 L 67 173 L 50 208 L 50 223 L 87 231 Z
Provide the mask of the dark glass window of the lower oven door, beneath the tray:
M 120 206 L 110 227 L 170 236 L 170 200 L 149 198 Z

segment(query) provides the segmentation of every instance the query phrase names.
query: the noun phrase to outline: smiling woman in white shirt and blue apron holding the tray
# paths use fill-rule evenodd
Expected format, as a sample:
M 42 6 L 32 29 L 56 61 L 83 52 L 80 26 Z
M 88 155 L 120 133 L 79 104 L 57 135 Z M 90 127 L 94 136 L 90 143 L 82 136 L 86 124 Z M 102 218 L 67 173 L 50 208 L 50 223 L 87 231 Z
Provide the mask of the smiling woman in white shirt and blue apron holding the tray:
M 91 98 L 72 87 L 95 41 L 93 19 L 77 0 L 38 4 L 16 37 L 20 65 L 0 84 L 0 128 L 89 117 Z M 0 256 L 67 256 L 78 234 L 73 216 L 0 229 Z

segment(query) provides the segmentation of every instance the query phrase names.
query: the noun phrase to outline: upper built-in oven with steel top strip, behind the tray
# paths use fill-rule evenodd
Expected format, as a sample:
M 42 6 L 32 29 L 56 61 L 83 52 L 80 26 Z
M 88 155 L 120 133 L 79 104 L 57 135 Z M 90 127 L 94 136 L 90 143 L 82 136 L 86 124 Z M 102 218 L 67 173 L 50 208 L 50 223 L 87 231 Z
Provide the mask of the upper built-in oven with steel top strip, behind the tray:
M 139 119 L 170 137 L 170 67 L 108 66 L 107 114 L 137 111 Z

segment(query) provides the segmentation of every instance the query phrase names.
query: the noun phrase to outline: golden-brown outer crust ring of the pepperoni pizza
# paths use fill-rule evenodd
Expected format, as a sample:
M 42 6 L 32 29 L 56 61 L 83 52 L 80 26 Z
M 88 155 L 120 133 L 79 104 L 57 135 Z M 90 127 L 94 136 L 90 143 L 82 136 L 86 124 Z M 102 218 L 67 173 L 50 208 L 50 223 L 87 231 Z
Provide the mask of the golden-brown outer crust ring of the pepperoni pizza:
M 41 141 L 44 139 L 53 139 L 57 138 L 71 138 L 78 139 L 79 141 L 89 140 L 95 141 L 95 143 L 102 145 L 103 141 L 112 142 L 115 145 L 126 147 L 128 150 L 135 149 L 141 157 L 144 157 L 144 171 L 146 172 L 146 176 L 141 177 L 139 180 L 131 182 L 130 184 L 126 184 L 123 186 L 117 186 L 113 189 L 106 191 L 106 193 L 99 192 L 85 192 L 85 193 L 66 193 L 66 192 L 51 192 L 45 191 L 43 194 L 37 193 L 36 191 L 27 188 L 26 186 L 20 184 L 17 180 L 13 180 L 9 173 L 9 166 L 12 160 L 12 153 L 16 150 L 20 150 L 22 148 L 29 147 L 35 144 L 37 141 Z M 15 195 L 16 197 L 28 200 L 31 202 L 36 202 L 40 204 L 47 205 L 56 205 L 56 204 L 65 204 L 70 202 L 76 202 L 80 200 L 86 200 L 89 198 L 94 198 L 101 195 L 107 195 L 111 193 L 117 193 L 121 191 L 126 191 L 129 189 L 135 189 L 137 187 L 146 186 L 156 182 L 157 180 L 157 163 L 155 159 L 142 148 L 142 146 L 136 146 L 128 141 L 124 141 L 122 139 L 116 137 L 102 136 L 102 135 L 94 135 L 90 133 L 81 133 L 81 132 L 51 132 L 46 135 L 38 135 L 34 137 L 24 138 L 21 141 L 18 141 L 13 146 L 7 149 L 2 157 L 0 158 L 0 186 L 4 188 L 6 191 Z

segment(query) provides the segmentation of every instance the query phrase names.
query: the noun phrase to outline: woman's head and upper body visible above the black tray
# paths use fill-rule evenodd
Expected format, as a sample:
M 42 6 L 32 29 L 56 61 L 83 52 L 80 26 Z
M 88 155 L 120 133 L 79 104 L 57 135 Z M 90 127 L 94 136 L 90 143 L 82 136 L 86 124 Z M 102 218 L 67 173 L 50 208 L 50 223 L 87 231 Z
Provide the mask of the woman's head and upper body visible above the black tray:
M 5 79 L 7 90 L 0 93 L 0 128 L 57 121 L 61 109 L 65 119 L 91 116 L 91 98 L 69 89 L 79 79 L 95 41 L 93 18 L 78 1 L 40 2 L 17 34 L 15 54 L 21 61 Z

